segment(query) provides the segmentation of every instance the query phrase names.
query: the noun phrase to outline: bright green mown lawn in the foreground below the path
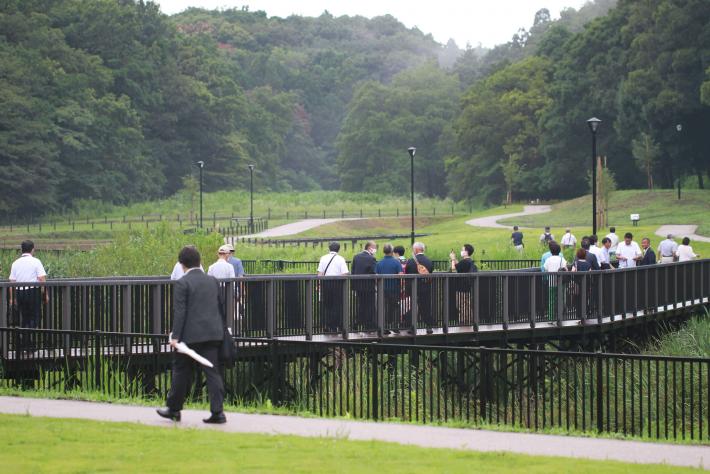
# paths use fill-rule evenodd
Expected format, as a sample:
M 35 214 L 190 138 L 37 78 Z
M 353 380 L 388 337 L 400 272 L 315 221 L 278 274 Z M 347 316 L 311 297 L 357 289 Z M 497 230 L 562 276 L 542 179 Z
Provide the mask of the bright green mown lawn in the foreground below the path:
M 679 473 L 658 465 L 0 415 L 4 472 Z M 376 467 L 375 467 L 376 466 Z

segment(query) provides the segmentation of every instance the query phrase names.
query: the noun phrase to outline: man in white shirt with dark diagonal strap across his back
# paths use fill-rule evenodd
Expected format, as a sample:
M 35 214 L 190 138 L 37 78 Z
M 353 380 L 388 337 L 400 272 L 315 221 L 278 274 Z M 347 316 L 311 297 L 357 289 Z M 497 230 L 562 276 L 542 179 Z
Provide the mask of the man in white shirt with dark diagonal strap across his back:
M 347 275 L 348 264 L 345 259 L 338 255 L 340 244 L 331 242 L 328 245 L 327 254 L 323 255 L 318 263 L 318 276 L 340 276 Z M 340 330 L 340 316 L 343 306 L 343 283 L 344 280 L 322 280 L 321 288 L 321 313 L 323 320 L 321 324 L 326 332 L 338 332 Z

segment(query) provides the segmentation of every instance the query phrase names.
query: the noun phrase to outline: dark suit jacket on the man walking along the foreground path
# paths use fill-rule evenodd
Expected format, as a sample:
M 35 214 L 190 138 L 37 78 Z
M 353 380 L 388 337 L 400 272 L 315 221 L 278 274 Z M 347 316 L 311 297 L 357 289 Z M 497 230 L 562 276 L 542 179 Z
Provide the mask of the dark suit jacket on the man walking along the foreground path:
M 186 344 L 221 341 L 223 299 L 216 278 L 200 269 L 187 272 L 173 288 L 173 339 Z

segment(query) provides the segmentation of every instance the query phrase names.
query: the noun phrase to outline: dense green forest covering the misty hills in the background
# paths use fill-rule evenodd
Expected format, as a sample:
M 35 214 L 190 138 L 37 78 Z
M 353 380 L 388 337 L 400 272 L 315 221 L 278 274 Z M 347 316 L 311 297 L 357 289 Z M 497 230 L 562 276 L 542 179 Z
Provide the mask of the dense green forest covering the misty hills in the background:
M 486 50 L 391 16 L 269 17 L 148 1 L 0 0 L 0 215 L 207 189 L 498 202 L 710 173 L 710 2 L 596 0 Z M 677 125 L 681 125 L 677 127 Z

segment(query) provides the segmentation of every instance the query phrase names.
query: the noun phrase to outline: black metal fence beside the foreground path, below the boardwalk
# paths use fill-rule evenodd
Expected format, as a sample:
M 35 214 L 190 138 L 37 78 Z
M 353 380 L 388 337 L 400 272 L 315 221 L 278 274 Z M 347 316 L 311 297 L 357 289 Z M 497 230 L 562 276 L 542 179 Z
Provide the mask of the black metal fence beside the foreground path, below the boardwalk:
M 18 350 L 32 337 L 33 350 Z M 162 399 L 162 335 L 0 328 L 0 386 Z M 237 339 L 228 403 L 320 416 L 710 439 L 710 359 Z M 199 380 L 199 376 L 197 378 Z M 191 399 L 206 400 L 197 384 Z M 156 400 L 156 403 L 159 403 Z

